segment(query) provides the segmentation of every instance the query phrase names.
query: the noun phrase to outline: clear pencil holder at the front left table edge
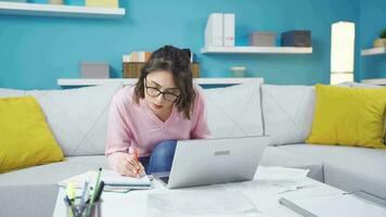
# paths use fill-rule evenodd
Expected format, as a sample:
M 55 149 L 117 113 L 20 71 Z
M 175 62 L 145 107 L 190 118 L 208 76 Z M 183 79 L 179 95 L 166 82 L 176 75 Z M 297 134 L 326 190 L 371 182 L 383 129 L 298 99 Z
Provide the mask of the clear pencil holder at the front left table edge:
M 80 204 L 80 196 L 77 196 L 69 205 L 66 201 L 67 217 L 101 217 L 102 216 L 102 199 L 94 203 Z

